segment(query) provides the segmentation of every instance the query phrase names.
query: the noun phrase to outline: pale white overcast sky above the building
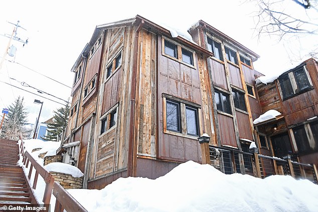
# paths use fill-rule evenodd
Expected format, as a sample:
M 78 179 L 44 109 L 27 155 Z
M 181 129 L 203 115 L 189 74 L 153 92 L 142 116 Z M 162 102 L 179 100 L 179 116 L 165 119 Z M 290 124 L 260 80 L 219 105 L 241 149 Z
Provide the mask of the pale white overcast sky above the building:
M 291 0 L 285 1 L 289 2 L 290 13 L 295 9 L 294 12 L 300 14 L 299 6 Z M 257 7 L 250 2 L 3 1 L 0 7 L 0 34 L 11 34 L 14 26 L 8 22 L 15 24 L 20 21 L 20 25 L 27 31 L 19 28 L 18 37 L 22 40 L 29 38 L 29 43 L 23 47 L 20 42 L 12 42 L 18 50 L 15 57 L 6 56 L 11 62 L 6 60 L 0 70 L 0 109 L 8 107 L 20 95 L 25 98 L 30 123 L 35 123 L 41 107 L 33 103 L 35 99 L 44 102 L 40 122 L 51 118 L 53 111 L 63 106 L 64 101 L 60 99 L 70 98 L 69 87 L 74 78 L 70 70 L 89 42 L 95 27 L 136 15 L 185 31 L 197 21 L 203 20 L 260 55 L 254 68 L 265 75 L 297 64 L 307 58 L 313 47 L 317 47 L 312 42 L 317 39 L 309 36 L 291 36 L 280 42 L 275 37 L 265 35 L 259 38 L 255 31 L 257 20 L 254 17 Z M 9 38 L 0 36 L 0 57 L 3 57 L 8 42 Z M 40 90 L 50 95 L 40 94 L 43 98 L 3 82 L 32 93 L 40 94 Z M 22 86 L 22 82 L 33 88 Z

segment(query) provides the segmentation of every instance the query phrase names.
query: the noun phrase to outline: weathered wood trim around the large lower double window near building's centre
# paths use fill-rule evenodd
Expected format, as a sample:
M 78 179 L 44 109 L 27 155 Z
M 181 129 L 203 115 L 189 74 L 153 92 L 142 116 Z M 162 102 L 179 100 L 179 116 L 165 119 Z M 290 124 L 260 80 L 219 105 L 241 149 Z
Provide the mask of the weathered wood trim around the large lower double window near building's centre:
M 171 134 L 171 135 L 176 135 L 176 136 L 180 136 L 180 137 L 184 137 L 184 138 L 191 138 L 191 139 L 198 139 L 198 137 L 200 136 L 201 134 L 201 127 L 200 125 L 202 124 L 200 119 L 201 119 L 201 107 L 200 108 L 195 108 L 193 105 L 197 105 L 195 103 L 192 103 L 192 104 L 186 104 L 185 102 L 188 102 L 188 101 L 185 101 L 185 100 L 182 100 L 182 99 L 179 99 L 177 97 L 174 97 L 173 100 L 171 98 L 167 98 L 167 96 L 169 95 L 163 95 L 163 128 L 164 128 L 164 133 L 166 134 Z M 180 101 L 178 102 L 178 100 L 176 99 L 179 99 Z M 167 102 L 175 102 L 175 103 L 179 103 L 180 104 L 180 111 L 179 111 L 179 119 L 180 119 L 180 131 L 177 132 L 177 131 L 172 131 L 172 130 L 169 130 L 167 129 Z M 181 102 L 182 101 L 182 102 Z M 192 108 L 192 109 L 196 109 L 197 110 L 197 130 L 198 130 L 198 135 L 192 135 L 192 134 L 188 134 L 187 132 L 187 117 L 186 117 L 186 107 L 189 107 L 189 108 Z

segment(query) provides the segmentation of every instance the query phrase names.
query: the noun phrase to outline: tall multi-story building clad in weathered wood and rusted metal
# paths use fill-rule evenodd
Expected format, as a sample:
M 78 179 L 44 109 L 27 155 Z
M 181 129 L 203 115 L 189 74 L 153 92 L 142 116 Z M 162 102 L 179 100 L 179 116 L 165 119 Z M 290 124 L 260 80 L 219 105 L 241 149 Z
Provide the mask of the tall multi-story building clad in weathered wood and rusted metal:
M 203 21 L 192 39 L 140 16 L 97 26 L 75 62 L 63 161 L 84 172 L 84 187 L 119 177 L 156 178 L 201 162 L 198 137 L 248 151 L 259 143 L 258 55 Z M 190 35 L 189 35 L 190 37 Z M 268 152 L 270 153 L 270 152 Z M 223 153 L 221 170 L 234 170 Z M 228 165 L 224 165 L 227 163 Z

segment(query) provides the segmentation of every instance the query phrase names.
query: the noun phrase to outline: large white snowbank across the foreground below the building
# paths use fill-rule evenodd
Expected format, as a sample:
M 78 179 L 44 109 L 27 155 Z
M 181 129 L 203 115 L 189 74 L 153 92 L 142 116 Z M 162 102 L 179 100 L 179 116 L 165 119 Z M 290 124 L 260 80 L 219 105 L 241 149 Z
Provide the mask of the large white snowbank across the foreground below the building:
M 318 186 L 274 175 L 226 175 L 188 161 L 155 180 L 119 178 L 101 190 L 68 189 L 88 211 L 316 211 Z

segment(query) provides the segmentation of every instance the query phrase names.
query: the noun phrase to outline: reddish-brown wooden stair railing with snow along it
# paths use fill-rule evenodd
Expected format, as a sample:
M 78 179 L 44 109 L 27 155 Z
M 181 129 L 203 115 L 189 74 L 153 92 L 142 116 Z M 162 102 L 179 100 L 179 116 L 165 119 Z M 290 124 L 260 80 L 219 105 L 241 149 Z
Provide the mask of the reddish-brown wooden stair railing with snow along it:
M 28 168 L 30 163 L 30 170 L 28 179 L 31 180 L 32 170 L 35 168 L 35 177 L 33 182 L 33 189 L 36 189 L 39 174 L 43 177 L 46 186 L 43 195 L 44 204 L 50 204 L 52 190 L 56 197 L 55 212 L 66 211 L 87 211 L 76 199 L 74 199 L 60 184 L 54 182 L 54 177 L 43 166 L 41 166 L 28 151 L 25 151 L 23 136 L 20 133 L 20 154 L 23 156 L 23 164 Z

